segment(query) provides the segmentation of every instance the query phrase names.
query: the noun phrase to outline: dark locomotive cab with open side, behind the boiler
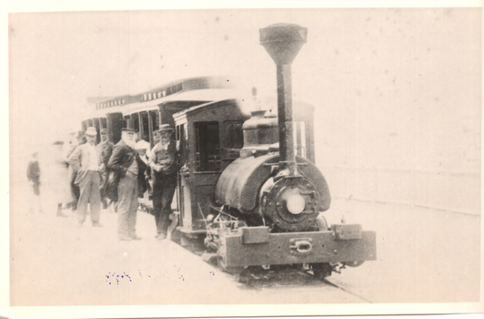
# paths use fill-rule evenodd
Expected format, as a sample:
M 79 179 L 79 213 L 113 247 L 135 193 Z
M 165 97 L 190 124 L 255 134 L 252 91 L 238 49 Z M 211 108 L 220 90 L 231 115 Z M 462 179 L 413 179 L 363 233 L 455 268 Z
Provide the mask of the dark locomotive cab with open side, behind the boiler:
M 184 166 L 180 170 L 180 221 L 172 237 L 182 245 L 203 242 L 207 215 L 214 207 L 220 174 L 240 156 L 242 125 L 248 115 L 236 99 L 187 108 L 174 115 L 176 141 Z

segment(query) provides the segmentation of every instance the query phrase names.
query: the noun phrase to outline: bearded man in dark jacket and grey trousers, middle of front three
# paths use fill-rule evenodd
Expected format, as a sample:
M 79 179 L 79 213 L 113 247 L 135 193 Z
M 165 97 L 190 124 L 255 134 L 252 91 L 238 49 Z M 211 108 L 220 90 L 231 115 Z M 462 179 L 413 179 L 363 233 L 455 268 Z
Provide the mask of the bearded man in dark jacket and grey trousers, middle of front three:
M 120 241 L 140 240 L 136 235 L 137 188 L 139 157 L 136 152 L 135 130 L 130 121 L 121 129 L 121 140 L 113 149 L 107 167 L 114 171 L 117 183 L 117 232 Z

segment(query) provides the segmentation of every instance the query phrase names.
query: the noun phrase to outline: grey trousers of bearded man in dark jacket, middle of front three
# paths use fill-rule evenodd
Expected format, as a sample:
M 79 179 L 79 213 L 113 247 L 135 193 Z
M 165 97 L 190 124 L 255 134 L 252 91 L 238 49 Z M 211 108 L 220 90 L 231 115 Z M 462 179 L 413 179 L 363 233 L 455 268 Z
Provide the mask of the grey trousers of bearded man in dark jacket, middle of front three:
M 137 177 L 126 172 L 117 186 L 117 233 L 120 237 L 136 235 Z

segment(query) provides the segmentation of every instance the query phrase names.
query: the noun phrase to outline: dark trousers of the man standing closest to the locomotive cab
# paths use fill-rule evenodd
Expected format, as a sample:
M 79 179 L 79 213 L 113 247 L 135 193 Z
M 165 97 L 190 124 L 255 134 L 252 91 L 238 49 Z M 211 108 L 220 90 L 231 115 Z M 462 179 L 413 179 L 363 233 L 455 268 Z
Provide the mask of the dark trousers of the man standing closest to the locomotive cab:
M 176 189 L 176 174 L 164 175 L 153 173 L 153 213 L 156 221 L 156 231 L 166 235 L 168 231 L 171 201 Z

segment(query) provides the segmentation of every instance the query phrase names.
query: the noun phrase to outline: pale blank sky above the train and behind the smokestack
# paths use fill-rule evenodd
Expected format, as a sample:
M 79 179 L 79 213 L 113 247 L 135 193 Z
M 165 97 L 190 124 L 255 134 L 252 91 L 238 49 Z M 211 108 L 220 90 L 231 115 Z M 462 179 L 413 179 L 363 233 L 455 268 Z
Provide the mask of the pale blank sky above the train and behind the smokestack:
M 293 96 L 316 107 L 323 165 L 426 169 L 479 158 L 469 150 L 479 149 L 481 73 L 481 17 L 471 8 L 11 13 L 14 147 L 79 129 L 89 97 L 178 78 L 237 77 L 247 94 L 274 95 L 276 67 L 258 29 L 278 22 L 308 27 Z M 368 153 L 376 148 L 386 154 Z

